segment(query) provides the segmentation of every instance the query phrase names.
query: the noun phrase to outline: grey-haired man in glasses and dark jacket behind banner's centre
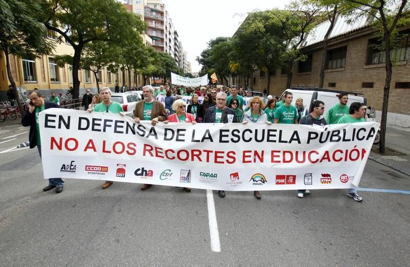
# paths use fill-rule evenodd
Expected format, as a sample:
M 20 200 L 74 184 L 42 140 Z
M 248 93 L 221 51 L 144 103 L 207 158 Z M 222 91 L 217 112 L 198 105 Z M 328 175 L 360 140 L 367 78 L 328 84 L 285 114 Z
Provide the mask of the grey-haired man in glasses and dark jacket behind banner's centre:
M 205 113 L 205 118 L 203 122 L 205 123 L 232 123 L 238 122 L 238 118 L 235 115 L 235 112 L 227 108 L 227 94 L 224 92 L 219 92 L 216 94 L 216 106 L 210 107 Z M 219 190 L 218 195 L 220 197 L 225 197 L 225 191 Z

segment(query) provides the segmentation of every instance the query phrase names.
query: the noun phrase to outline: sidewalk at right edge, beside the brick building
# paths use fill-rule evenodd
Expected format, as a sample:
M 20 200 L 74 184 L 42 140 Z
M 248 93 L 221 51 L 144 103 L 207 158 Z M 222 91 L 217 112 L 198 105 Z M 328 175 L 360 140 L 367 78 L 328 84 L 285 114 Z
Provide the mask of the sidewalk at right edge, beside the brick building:
M 388 166 L 393 170 L 410 174 L 410 133 L 387 128 L 386 129 L 386 153 L 379 154 L 379 146 L 373 146 L 372 153 L 368 157 L 381 165 Z

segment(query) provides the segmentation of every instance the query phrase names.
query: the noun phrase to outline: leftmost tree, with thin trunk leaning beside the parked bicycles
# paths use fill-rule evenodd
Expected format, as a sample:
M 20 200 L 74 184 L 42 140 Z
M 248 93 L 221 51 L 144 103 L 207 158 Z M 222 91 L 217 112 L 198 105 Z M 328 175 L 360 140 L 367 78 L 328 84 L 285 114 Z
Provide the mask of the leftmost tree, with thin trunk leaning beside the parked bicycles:
M 0 0 L 0 48 L 6 57 L 7 77 L 22 115 L 25 111 L 11 74 L 9 55 L 38 57 L 52 51 L 52 44 L 45 38 L 46 28 L 35 19 L 39 11 L 40 6 L 32 1 Z

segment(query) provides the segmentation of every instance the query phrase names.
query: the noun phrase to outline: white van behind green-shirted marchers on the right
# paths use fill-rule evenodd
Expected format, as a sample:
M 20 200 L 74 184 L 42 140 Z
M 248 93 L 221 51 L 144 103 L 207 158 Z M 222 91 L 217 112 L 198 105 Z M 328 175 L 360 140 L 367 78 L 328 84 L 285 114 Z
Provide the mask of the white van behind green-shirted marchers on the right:
M 348 94 L 349 99 L 347 101 L 347 106 L 350 106 L 350 104 L 352 104 L 353 102 L 361 102 L 364 104 L 364 106 L 367 106 L 367 99 L 365 97 L 354 94 L 352 92 L 333 91 L 333 90 L 327 90 L 327 89 L 321 89 L 321 88 L 297 88 L 297 89 L 294 88 L 294 89 L 288 89 L 286 91 L 291 92 L 293 94 L 293 100 L 292 100 L 293 106 L 296 105 L 296 99 L 300 97 L 303 98 L 303 105 L 308 110 L 310 110 L 310 107 L 314 100 L 323 101 L 324 106 L 325 106 L 324 113 L 323 113 L 324 117 L 326 117 L 327 111 L 339 102 L 340 93 Z

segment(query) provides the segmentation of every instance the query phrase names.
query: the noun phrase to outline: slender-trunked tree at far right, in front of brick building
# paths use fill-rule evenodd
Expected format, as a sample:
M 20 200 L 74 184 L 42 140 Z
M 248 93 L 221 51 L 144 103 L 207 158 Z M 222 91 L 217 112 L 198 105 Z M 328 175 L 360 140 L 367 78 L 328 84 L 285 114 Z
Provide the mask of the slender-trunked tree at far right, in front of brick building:
M 350 10 L 355 10 L 357 12 L 356 18 L 363 15 L 373 17 L 374 22 L 372 23 L 372 26 L 379 33 L 381 48 L 384 48 L 385 52 L 386 78 L 383 88 L 383 106 L 379 145 L 380 153 L 384 153 L 388 97 L 393 73 L 391 52 L 392 49 L 394 49 L 395 43 L 397 44 L 395 40 L 400 38 L 397 28 L 410 23 L 408 15 L 403 16 L 403 12 L 408 10 L 409 5 L 407 0 L 348 0 L 347 3 L 350 4 Z

